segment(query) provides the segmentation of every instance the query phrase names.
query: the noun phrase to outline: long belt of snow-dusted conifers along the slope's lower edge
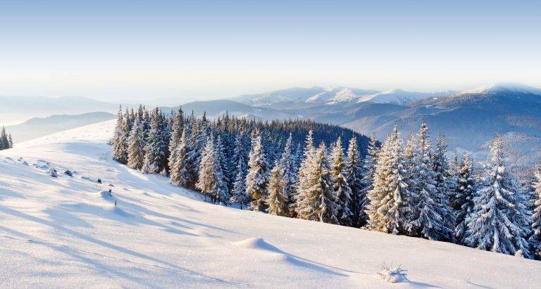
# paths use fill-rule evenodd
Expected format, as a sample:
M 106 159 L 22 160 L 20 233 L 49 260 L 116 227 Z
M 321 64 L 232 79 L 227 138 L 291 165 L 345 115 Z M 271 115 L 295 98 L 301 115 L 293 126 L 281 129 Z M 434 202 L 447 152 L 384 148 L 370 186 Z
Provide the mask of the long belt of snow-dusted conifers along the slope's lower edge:
M 521 182 L 503 142 L 483 169 L 447 158 L 423 122 L 383 143 L 309 120 L 208 120 L 182 108 L 119 110 L 113 157 L 220 205 L 541 258 L 541 166 Z

